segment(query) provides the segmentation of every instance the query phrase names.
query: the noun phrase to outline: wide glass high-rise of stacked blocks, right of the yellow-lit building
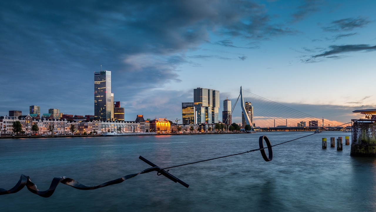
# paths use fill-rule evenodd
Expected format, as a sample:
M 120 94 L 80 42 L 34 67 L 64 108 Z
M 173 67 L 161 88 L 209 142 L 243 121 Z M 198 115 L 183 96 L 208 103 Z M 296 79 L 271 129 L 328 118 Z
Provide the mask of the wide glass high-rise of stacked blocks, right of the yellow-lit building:
M 197 122 L 196 124 L 218 123 L 219 91 L 208 88 L 193 89 L 193 101 Z

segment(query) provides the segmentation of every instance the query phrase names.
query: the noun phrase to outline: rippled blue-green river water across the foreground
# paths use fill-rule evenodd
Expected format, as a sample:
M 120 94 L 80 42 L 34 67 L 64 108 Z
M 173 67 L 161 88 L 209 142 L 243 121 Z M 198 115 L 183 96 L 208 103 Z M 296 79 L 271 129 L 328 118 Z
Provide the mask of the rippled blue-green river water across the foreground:
M 273 145 L 312 133 L 1 139 L 0 188 L 12 188 L 21 174 L 41 191 L 61 176 L 99 185 L 149 168 L 140 155 L 174 166 L 256 149 L 263 134 Z M 343 151 L 330 147 L 330 137 L 339 136 Z M 89 191 L 60 184 L 49 198 L 24 188 L 0 195 L 0 210 L 376 211 L 376 159 L 351 157 L 345 136 L 351 144 L 351 133 L 322 132 L 275 146 L 271 162 L 255 151 L 171 168 L 189 188 L 150 172 Z

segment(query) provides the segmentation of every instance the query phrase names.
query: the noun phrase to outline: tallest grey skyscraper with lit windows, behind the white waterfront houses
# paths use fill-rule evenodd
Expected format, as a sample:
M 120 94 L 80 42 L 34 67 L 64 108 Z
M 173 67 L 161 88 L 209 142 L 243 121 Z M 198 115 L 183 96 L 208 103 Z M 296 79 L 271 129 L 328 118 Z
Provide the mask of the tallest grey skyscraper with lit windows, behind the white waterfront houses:
M 114 101 L 111 99 L 111 72 L 94 72 L 94 119 L 110 121 Z

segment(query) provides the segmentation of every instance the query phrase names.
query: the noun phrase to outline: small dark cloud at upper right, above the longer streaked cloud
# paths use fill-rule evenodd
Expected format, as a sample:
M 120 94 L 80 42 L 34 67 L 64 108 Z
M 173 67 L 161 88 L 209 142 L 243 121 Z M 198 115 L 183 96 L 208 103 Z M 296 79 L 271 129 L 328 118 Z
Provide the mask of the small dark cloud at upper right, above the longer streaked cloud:
M 323 27 L 324 31 L 339 32 L 339 31 L 352 31 L 355 28 L 361 28 L 370 23 L 367 18 L 344 18 L 337 21 L 332 21 L 331 26 Z

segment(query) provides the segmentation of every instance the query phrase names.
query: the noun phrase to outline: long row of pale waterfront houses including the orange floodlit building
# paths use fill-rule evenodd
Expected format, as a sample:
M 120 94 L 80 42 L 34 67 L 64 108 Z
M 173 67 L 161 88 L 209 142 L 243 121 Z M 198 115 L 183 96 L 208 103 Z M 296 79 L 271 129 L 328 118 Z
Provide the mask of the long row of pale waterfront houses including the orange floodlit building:
M 119 133 L 156 132 L 156 133 L 193 133 L 198 131 L 214 130 L 214 124 L 171 124 L 167 119 L 147 119 L 143 115 L 137 115 L 135 121 L 72 121 L 67 119 L 39 118 L 37 114 L 27 116 L 0 116 L 0 134 L 14 134 L 13 123 L 19 121 L 24 134 L 101 134 L 108 131 Z M 33 131 L 36 124 L 38 131 Z M 71 131 L 74 125 L 74 131 Z

